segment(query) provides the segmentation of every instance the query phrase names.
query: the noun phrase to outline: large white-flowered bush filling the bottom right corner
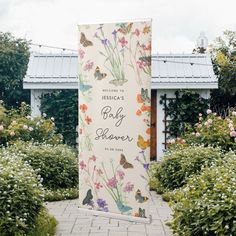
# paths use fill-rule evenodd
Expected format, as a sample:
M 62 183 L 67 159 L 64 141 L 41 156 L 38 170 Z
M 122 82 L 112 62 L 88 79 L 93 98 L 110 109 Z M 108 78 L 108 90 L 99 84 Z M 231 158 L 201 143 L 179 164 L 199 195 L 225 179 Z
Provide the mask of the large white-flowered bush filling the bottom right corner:
M 236 235 L 236 157 L 206 168 L 175 193 L 172 229 L 178 235 Z

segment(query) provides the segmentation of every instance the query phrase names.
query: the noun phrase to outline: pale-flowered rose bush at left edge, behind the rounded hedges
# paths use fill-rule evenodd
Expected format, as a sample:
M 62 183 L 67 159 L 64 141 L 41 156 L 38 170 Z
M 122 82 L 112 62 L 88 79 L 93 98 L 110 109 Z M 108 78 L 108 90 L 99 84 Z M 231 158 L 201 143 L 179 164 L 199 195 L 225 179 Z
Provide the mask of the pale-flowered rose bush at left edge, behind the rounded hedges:
M 62 142 L 62 136 L 56 134 L 51 119 L 32 118 L 25 103 L 18 110 L 7 110 L 0 104 L 0 144 L 12 144 L 16 140 L 57 144 Z

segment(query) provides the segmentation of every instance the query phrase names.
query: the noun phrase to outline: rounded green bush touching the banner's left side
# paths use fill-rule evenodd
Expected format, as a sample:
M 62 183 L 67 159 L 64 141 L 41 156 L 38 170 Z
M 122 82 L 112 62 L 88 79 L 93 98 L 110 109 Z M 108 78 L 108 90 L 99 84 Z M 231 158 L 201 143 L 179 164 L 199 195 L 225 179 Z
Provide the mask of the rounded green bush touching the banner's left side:
M 24 154 L 24 160 L 43 178 L 44 187 L 49 189 L 77 187 L 79 179 L 77 154 L 68 146 L 18 142 L 9 149 Z

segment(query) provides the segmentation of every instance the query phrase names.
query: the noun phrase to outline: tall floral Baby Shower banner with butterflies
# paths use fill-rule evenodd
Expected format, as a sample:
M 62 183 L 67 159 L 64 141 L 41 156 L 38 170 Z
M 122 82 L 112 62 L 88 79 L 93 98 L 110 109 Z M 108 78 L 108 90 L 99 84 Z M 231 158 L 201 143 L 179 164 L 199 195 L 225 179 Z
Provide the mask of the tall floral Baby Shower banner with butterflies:
M 151 21 L 78 28 L 79 207 L 145 221 Z

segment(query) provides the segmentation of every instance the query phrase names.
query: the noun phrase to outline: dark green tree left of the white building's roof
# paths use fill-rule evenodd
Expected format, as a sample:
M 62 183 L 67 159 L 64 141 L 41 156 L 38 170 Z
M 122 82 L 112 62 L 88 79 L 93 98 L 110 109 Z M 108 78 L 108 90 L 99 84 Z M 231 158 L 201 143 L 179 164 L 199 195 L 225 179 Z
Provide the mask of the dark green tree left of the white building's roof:
M 29 56 L 26 40 L 0 32 L 0 99 L 7 108 L 30 101 L 29 91 L 23 90 Z

